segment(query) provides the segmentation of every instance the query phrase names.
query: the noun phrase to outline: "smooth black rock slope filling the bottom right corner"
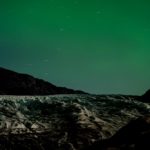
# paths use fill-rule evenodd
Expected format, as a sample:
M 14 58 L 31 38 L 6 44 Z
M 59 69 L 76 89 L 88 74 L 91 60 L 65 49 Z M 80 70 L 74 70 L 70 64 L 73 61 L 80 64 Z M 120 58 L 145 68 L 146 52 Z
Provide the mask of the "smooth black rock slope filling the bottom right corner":
M 149 150 L 150 117 L 145 116 L 131 121 L 108 140 L 93 144 L 92 150 Z

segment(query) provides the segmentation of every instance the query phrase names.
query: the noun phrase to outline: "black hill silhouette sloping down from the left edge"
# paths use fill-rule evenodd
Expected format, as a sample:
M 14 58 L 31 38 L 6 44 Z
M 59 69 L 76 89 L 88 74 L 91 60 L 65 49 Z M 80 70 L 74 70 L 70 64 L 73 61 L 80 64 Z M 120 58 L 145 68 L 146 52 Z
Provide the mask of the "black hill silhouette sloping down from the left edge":
M 65 87 L 57 87 L 28 74 L 17 73 L 0 67 L 0 95 L 52 95 L 84 94 Z

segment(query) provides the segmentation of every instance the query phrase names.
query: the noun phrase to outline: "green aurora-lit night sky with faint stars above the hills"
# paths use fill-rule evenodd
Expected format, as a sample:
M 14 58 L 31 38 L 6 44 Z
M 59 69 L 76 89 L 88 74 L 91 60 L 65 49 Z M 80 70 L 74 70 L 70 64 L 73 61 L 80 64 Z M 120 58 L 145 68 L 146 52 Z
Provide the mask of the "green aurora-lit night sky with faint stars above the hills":
M 150 1 L 1 1 L 0 66 L 90 93 L 143 94 Z

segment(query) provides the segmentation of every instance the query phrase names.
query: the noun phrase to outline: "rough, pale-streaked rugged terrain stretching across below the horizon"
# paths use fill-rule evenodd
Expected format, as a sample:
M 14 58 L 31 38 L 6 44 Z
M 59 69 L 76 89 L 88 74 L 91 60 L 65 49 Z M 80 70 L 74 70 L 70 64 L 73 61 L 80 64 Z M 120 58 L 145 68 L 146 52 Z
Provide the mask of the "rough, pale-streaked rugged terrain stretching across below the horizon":
M 135 120 L 149 113 L 133 96 L 0 96 L 0 149 L 135 149 L 128 137 L 145 133 Z

